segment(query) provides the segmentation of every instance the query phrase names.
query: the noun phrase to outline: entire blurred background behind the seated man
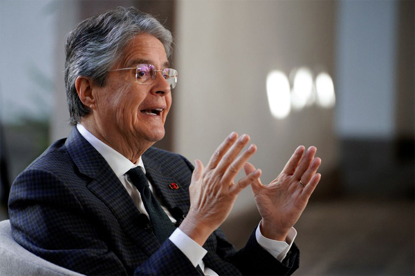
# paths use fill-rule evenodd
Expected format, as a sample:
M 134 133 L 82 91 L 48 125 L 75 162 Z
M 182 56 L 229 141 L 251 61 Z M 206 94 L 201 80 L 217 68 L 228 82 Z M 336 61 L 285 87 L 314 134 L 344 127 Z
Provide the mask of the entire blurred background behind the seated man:
M 264 184 L 317 146 L 296 275 L 414 275 L 414 1 L 1 0 L 0 220 L 13 179 L 71 130 L 66 34 L 117 6 L 174 33 L 179 82 L 155 146 L 206 164 L 248 133 Z M 222 227 L 241 248 L 259 219 L 247 188 Z

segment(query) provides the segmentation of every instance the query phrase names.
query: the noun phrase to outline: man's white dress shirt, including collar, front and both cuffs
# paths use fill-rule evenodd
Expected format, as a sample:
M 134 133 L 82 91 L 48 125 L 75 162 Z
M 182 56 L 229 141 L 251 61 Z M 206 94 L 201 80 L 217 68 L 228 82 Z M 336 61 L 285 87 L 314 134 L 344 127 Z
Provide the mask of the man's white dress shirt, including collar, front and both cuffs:
M 131 161 L 129 161 L 129 159 L 124 157 L 124 155 L 121 155 L 120 152 L 114 150 L 107 144 L 104 144 L 104 142 L 100 141 L 100 139 L 93 136 L 91 132 L 86 130 L 86 128 L 84 128 L 84 126 L 81 124 L 77 124 L 77 130 L 79 130 L 80 134 L 86 139 L 86 141 L 89 141 L 89 144 L 91 144 L 95 150 L 100 152 L 100 155 L 104 157 L 113 172 L 117 175 L 118 179 L 120 179 L 122 185 L 127 190 L 127 193 L 129 193 L 131 199 L 133 199 L 133 202 L 136 204 L 138 210 L 140 210 L 141 213 L 144 213 L 148 217 L 148 213 L 147 210 L 145 210 L 144 204 L 142 203 L 140 193 L 138 192 L 136 186 L 131 184 L 129 176 L 126 174 L 131 168 L 135 168 L 137 166 L 140 166 L 145 172 L 145 167 L 142 163 L 141 157 L 138 160 L 137 164 L 133 164 Z M 154 193 L 151 182 L 149 182 L 149 186 L 151 191 Z M 156 193 L 154 193 L 154 196 L 158 199 Z M 169 219 L 173 223 L 176 223 L 176 219 L 174 219 L 169 210 L 167 210 L 167 208 L 163 205 L 161 207 L 163 210 L 165 210 L 165 213 L 169 216 Z M 290 250 L 296 235 L 297 231 L 294 228 L 291 228 L 290 233 L 288 233 L 287 244 L 287 242 L 279 242 L 264 237 L 261 234 L 261 230 L 259 230 L 259 226 L 257 227 L 257 231 L 255 233 L 258 244 L 267 250 L 268 253 L 278 259 L 279 262 L 281 262 L 286 257 L 286 254 Z M 185 254 L 185 256 L 190 260 L 190 262 L 192 262 L 195 267 L 199 265 L 205 275 L 217 275 L 217 273 L 215 273 L 212 269 L 205 267 L 205 264 L 202 260 L 208 251 L 194 242 L 194 240 L 183 233 L 182 230 L 176 228 L 169 239 L 183 252 L 183 254 Z

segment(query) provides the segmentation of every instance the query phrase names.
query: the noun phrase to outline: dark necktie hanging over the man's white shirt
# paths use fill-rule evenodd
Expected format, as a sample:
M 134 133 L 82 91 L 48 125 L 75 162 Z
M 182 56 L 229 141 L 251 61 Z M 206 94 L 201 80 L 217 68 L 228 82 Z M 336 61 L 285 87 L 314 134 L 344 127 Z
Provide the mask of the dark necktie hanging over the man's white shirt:
M 138 192 L 140 192 L 142 203 L 147 213 L 149 213 L 150 221 L 154 226 L 154 234 L 160 243 L 163 244 L 165 239 L 172 235 L 176 227 L 174 227 L 172 221 L 163 208 L 161 208 L 156 197 L 151 193 L 149 181 L 145 177 L 142 169 L 140 167 L 131 168 L 127 172 L 127 175 L 129 175 L 131 182 L 136 186 Z

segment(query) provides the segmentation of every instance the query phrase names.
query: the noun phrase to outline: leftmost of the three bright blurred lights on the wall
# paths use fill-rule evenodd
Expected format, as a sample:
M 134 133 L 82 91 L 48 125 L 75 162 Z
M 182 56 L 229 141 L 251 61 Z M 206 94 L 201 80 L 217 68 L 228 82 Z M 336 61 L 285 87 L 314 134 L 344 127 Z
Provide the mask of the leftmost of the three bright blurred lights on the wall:
M 277 119 L 284 119 L 290 114 L 290 83 L 284 72 L 273 71 L 266 77 L 266 92 L 271 114 Z

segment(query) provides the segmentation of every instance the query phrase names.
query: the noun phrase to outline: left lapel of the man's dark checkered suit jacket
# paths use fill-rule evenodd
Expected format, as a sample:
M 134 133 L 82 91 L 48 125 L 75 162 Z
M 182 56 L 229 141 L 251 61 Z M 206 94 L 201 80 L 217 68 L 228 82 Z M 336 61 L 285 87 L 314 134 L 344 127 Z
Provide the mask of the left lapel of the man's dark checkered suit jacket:
M 155 235 L 149 234 L 138 224 L 140 211 L 104 157 L 76 128 L 66 140 L 66 146 L 80 172 L 91 178 L 86 184 L 87 188 L 108 206 L 129 238 L 140 244 L 147 255 L 152 255 L 158 249 L 154 245 L 160 243 Z

